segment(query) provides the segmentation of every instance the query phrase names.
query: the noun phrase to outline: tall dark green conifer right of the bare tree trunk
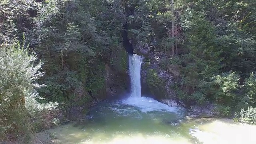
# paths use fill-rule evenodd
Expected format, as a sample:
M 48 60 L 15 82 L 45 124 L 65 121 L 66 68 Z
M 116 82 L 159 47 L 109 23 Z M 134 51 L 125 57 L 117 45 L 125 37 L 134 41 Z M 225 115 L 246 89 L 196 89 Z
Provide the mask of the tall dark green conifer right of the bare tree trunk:
M 217 90 L 214 75 L 222 68 L 222 49 L 216 44 L 215 27 L 203 14 L 193 11 L 186 14 L 183 17 L 184 27 L 189 28 L 184 48 L 186 54 L 168 63 L 180 65 L 181 80 L 178 85 L 186 94 L 186 98 L 182 99 L 204 105 L 214 99 Z

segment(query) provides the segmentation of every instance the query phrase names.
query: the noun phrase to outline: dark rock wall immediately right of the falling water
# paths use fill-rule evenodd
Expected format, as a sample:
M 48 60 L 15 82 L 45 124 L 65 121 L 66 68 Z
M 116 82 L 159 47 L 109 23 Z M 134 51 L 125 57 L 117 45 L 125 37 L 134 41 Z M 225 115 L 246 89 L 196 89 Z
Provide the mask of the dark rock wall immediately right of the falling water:
M 136 53 L 144 56 L 141 70 L 142 95 L 150 96 L 168 105 L 178 105 L 176 94 L 171 86 L 174 84 L 173 75 L 160 67 L 164 53 L 154 52 L 148 44 L 136 46 Z

